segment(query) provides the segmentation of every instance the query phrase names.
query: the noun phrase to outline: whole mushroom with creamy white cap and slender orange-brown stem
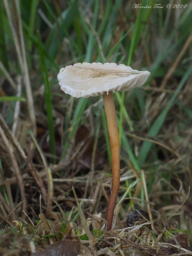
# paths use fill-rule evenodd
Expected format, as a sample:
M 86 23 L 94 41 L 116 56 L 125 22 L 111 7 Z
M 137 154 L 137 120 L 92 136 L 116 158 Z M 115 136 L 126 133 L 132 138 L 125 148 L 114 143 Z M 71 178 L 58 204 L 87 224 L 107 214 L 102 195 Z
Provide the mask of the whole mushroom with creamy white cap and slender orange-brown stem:
M 120 145 L 113 91 L 131 90 L 144 84 L 149 75 L 148 71 L 133 70 L 123 64 L 83 62 L 61 68 L 57 76 L 61 90 L 73 97 L 103 95 L 112 157 L 112 185 L 106 213 L 108 231 L 112 226 L 120 185 Z

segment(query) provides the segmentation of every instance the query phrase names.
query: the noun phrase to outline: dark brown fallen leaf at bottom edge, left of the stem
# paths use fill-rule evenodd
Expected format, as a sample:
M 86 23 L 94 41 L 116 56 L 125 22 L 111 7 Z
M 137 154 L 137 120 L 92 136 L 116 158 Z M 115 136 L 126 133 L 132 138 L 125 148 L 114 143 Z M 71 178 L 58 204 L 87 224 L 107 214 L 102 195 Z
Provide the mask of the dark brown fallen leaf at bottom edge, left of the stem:
M 77 256 L 80 252 L 80 241 L 64 239 L 49 245 L 44 251 L 35 252 L 31 256 Z

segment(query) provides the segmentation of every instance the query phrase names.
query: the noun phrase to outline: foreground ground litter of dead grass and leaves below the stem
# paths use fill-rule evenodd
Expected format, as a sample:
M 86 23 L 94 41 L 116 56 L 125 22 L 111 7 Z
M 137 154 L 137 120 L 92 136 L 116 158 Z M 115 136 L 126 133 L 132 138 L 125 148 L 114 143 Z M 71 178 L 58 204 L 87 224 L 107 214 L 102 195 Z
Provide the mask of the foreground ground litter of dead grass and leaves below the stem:
M 64 223 L 64 222 L 63 222 Z M 23 225 L 17 223 L 15 228 L 5 228 L 0 235 L 0 255 L 28 255 L 31 256 L 76 256 L 81 255 L 192 255 L 190 249 L 191 236 L 186 233 L 173 236 L 168 241 L 164 241 L 162 233 L 151 231 L 148 227 L 150 222 L 138 224 L 137 226 L 104 231 L 103 235 L 93 243 L 91 240 L 79 240 L 78 236 L 65 235 L 62 239 L 60 232 L 61 220 L 52 221 L 48 224 L 51 233 L 59 232 L 55 236 L 43 235 L 50 234 L 45 231 L 45 222 L 40 222 L 37 226 Z M 156 226 L 156 225 L 155 225 Z M 77 227 L 73 227 L 76 230 Z M 67 228 L 66 234 L 69 229 Z M 17 234 L 16 234 L 17 233 Z M 57 238 L 57 239 L 56 239 Z M 59 239 L 59 240 L 58 240 Z M 56 242 L 56 240 L 58 242 Z M 38 241 L 38 246 L 37 244 Z M 50 244 L 50 245 L 49 245 Z M 80 246 L 81 244 L 81 246 Z

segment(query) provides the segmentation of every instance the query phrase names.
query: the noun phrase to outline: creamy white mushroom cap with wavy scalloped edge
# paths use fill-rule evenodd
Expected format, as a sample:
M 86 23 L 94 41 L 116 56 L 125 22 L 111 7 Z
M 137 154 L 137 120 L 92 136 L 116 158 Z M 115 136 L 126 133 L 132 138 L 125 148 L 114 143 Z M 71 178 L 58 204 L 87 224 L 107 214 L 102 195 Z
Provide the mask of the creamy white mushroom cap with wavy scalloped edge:
M 129 91 L 144 84 L 148 71 L 137 71 L 116 63 L 77 63 L 61 68 L 57 76 L 61 90 L 73 97 L 88 98 L 110 91 Z

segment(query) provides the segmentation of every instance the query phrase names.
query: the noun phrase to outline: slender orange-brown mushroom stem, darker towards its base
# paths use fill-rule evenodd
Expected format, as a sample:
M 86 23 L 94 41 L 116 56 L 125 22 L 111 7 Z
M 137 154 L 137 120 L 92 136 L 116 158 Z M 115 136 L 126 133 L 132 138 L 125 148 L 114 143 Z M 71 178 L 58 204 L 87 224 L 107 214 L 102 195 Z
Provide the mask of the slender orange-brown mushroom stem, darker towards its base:
M 120 185 L 120 144 L 113 92 L 109 92 L 108 95 L 107 92 L 104 92 L 103 102 L 105 107 L 105 114 L 107 117 L 112 158 L 112 186 L 106 213 L 106 220 L 108 222 L 107 231 L 109 231 L 111 230 L 112 226 L 113 214 Z

